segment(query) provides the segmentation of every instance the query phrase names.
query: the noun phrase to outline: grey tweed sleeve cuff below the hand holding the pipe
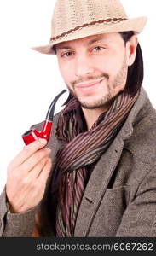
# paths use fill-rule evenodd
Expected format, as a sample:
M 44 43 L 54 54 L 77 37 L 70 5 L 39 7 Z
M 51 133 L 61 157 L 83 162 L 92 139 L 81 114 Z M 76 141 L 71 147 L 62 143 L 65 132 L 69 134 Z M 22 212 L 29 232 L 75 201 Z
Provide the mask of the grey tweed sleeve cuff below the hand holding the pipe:
M 26 237 L 32 236 L 35 224 L 35 212 L 38 207 L 22 213 L 9 212 L 6 190 L 0 195 L 0 236 Z

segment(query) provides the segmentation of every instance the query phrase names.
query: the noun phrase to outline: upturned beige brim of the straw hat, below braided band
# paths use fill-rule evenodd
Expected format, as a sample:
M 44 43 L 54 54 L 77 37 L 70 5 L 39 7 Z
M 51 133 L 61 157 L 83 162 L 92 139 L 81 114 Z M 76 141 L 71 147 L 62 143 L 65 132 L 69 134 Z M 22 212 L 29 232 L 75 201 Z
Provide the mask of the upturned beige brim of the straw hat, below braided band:
M 103 24 L 98 24 L 96 26 L 86 26 L 86 27 L 82 27 L 78 31 L 74 31 L 70 34 L 66 34 L 66 36 L 56 39 L 55 41 L 52 41 L 50 44 L 38 46 L 38 47 L 32 47 L 32 49 L 37 50 L 38 52 L 43 54 L 55 55 L 55 50 L 53 49 L 53 46 L 55 44 L 60 44 L 62 42 L 71 41 L 78 38 L 86 38 L 89 36 L 102 34 L 102 33 L 126 32 L 126 31 L 134 31 L 134 32 L 140 33 L 142 32 L 146 23 L 147 23 L 147 17 L 144 16 L 144 17 L 120 21 L 113 24 L 103 23 Z

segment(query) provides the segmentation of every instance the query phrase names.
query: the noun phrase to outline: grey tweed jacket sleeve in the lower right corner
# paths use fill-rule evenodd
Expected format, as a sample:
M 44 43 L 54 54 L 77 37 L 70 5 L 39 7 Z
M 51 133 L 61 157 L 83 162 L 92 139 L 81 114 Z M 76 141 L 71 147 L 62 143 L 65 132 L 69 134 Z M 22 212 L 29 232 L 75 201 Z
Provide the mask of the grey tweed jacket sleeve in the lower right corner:
M 139 185 L 134 200 L 124 212 L 116 236 L 156 236 L 156 164 Z

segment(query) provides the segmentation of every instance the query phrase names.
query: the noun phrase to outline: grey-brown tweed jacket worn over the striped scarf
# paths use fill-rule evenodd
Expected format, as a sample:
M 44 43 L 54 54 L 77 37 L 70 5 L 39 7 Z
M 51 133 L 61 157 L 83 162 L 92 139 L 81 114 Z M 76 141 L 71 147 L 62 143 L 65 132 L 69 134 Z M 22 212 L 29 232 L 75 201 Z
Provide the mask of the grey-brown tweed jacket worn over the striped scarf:
M 47 205 L 55 154 L 60 147 L 55 137 L 58 116 L 48 144 L 53 167 L 43 200 L 27 212 L 10 213 L 4 189 L 0 196 L 1 236 L 32 236 L 36 212 L 42 213 L 41 236 L 55 236 Z M 35 127 L 41 129 L 42 124 Z M 156 111 L 143 88 L 91 173 L 74 236 L 156 236 Z

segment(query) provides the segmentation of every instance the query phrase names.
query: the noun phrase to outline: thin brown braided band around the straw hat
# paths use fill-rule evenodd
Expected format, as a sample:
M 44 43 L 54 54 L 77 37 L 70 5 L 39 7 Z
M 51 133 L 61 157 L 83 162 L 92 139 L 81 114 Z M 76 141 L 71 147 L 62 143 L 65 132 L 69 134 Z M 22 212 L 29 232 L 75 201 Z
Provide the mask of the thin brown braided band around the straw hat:
M 119 22 L 119 21 L 124 21 L 124 20 L 128 20 L 128 19 L 126 19 L 126 18 L 113 18 L 113 19 L 98 20 L 98 21 L 92 21 L 92 22 L 90 22 L 90 23 L 85 23 L 85 24 L 83 24 L 82 26 L 76 26 L 75 28 L 70 29 L 70 30 L 68 30 L 67 32 L 64 32 L 64 33 L 62 33 L 62 34 L 59 35 L 59 36 L 50 38 L 50 42 L 51 42 L 51 41 L 54 41 L 54 40 L 56 40 L 56 39 L 65 37 L 66 35 L 69 35 L 70 33 L 75 32 L 75 31 L 77 31 L 78 29 L 83 28 L 83 27 L 86 27 L 86 26 L 93 26 L 93 25 L 95 25 L 95 24 L 101 24 L 101 23 L 105 23 L 105 22 L 106 22 L 106 23 L 110 23 L 110 22 L 113 23 L 113 22 Z

